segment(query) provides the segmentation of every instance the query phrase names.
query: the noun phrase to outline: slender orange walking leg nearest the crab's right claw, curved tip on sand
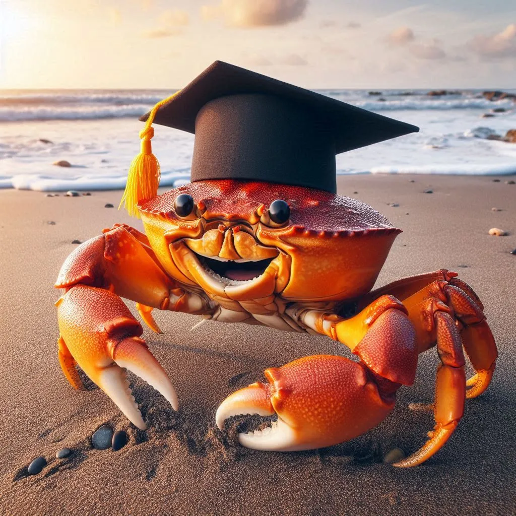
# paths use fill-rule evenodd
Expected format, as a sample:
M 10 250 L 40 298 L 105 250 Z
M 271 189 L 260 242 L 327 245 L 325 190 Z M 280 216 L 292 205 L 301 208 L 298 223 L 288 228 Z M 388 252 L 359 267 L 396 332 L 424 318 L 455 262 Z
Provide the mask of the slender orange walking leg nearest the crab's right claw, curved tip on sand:
M 437 453 L 457 428 L 464 414 L 465 360 L 454 318 L 448 312 L 442 311 L 435 299 L 428 299 L 417 308 L 432 325 L 431 329 L 426 330 L 436 338 L 441 360 L 436 374 L 436 396 L 432 407 L 436 425 L 429 432 L 428 441 L 406 459 L 395 462 L 393 466 L 397 467 L 421 464 Z

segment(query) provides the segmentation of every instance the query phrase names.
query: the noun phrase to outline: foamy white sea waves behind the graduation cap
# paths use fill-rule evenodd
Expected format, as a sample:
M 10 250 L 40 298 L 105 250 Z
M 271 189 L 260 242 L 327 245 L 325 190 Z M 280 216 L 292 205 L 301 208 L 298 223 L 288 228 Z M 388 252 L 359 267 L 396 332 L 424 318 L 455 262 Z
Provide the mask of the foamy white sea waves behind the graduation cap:
M 516 102 L 480 90 L 317 90 L 420 127 L 419 133 L 337 155 L 338 174 L 516 174 Z M 516 90 L 506 90 L 516 93 Z M 173 91 L 0 90 L 0 188 L 103 190 L 125 186 L 139 152 L 138 117 Z M 484 118 L 487 115 L 486 118 Z M 155 126 L 162 186 L 188 182 L 194 136 Z M 69 168 L 53 165 L 67 160 Z

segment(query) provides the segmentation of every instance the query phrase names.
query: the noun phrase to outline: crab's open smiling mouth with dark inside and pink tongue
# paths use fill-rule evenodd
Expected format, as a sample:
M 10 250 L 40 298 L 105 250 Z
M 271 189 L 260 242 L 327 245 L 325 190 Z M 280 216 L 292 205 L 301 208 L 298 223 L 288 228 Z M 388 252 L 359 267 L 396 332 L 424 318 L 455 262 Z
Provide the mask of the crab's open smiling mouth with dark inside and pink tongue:
M 232 284 L 252 281 L 255 278 L 259 278 L 275 258 L 271 257 L 257 261 L 245 259 L 225 260 L 220 257 L 208 257 L 195 251 L 192 252 L 196 255 L 199 263 L 206 272 L 222 283 L 231 282 Z

